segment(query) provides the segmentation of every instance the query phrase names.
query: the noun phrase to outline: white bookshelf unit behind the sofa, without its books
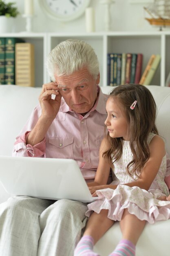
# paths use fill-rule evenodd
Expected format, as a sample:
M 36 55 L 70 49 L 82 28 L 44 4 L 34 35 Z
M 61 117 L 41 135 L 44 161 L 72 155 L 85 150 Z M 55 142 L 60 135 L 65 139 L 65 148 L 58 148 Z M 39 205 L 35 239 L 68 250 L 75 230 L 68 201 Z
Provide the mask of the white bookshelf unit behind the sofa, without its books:
M 107 85 L 107 53 L 142 53 L 142 73 L 151 54 L 161 54 L 161 64 L 152 80 L 154 85 L 165 85 L 170 72 L 170 31 L 152 32 L 95 32 L 95 33 L 13 33 L 0 37 L 19 37 L 35 45 L 35 85 L 41 87 L 50 81 L 45 60 L 51 49 L 69 38 L 85 40 L 94 49 L 99 59 L 100 85 Z

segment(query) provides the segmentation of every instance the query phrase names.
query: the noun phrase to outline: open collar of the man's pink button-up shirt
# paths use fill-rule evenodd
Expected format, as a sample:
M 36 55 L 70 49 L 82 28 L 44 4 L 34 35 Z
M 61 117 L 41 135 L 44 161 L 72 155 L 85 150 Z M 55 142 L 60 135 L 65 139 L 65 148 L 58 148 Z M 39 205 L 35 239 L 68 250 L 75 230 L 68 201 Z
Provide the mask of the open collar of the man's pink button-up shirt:
M 97 100 L 95 102 L 95 105 L 93 106 L 93 108 L 91 108 L 91 110 L 89 112 L 92 112 L 92 111 L 96 110 L 100 114 L 106 114 L 105 109 L 106 109 L 106 100 L 107 100 L 107 98 L 106 98 L 106 94 L 103 94 L 99 85 L 97 85 L 97 93 L 98 93 L 98 97 L 97 97 Z M 69 112 L 69 111 L 73 112 L 73 110 L 68 107 L 68 105 L 66 104 L 66 102 L 64 101 L 63 98 L 61 100 L 60 111 L 61 112 Z

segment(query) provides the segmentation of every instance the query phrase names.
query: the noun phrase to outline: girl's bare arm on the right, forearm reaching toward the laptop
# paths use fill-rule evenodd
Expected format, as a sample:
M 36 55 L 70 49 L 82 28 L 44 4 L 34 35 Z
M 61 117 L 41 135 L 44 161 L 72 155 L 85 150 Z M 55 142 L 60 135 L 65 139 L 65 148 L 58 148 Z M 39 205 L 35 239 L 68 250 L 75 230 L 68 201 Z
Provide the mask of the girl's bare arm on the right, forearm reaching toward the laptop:
M 146 189 L 148 190 L 155 179 L 159 167 L 161 165 L 163 157 L 166 155 L 166 150 L 165 150 L 165 143 L 163 139 L 159 136 L 154 136 L 149 144 L 150 148 L 150 157 L 144 167 L 141 170 L 141 174 L 139 176 L 139 179 L 137 179 L 134 182 L 126 183 L 124 185 L 127 186 L 138 186 L 141 189 Z M 99 189 L 116 189 L 117 185 L 100 185 L 100 186 L 94 186 L 91 188 L 91 193 L 93 196 L 95 196 L 95 191 Z

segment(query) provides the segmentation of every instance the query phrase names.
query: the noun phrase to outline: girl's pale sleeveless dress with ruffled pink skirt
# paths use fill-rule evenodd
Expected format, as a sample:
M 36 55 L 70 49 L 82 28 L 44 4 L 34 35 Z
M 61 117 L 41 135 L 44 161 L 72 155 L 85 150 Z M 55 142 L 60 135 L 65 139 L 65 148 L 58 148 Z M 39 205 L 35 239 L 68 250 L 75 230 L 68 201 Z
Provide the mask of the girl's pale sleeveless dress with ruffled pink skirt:
M 148 144 L 155 134 L 150 133 Z M 86 216 L 90 216 L 92 211 L 99 213 L 102 209 L 108 209 L 108 218 L 111 220 L 121 220 L 124 209 L 135 214 L 140 220 L 147 220 L 154 223 L 157 220 L 167 220 L 170 218 L 170 201 L 158 200 L 162 195 L 170 194 L 164 178 L 166 175 L 166 155 L 163 157 L 161 166 L 152 182 L 150 189 L 140 189 L 137 186 L 126 186 L 123 184 L 133 182 L 126 171 L 127 164 L 132 160 L 129 141 L 123 141 L 123 153 L 121 158 L 114 163 L 113 175 L 116 180 L 112 184 L 119 184 L 116 189 L 101 189 L 96 193 L 99 200 L 88 204 Z M 134 177 L 136 180 L 137 178 Z

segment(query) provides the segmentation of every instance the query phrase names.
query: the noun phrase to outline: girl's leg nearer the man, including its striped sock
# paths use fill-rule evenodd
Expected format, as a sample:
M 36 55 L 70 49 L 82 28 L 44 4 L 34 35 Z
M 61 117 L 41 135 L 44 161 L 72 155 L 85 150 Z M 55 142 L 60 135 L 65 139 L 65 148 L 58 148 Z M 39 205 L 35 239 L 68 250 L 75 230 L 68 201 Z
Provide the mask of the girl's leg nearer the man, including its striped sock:
M 97 256 L 93 252 L 93 246 L 113 225 L 114 221 L 108 219 L 108 210 L 100 213 L 93 212 L 90 216 L 82 239 L 75 248 L 74 256 Z

